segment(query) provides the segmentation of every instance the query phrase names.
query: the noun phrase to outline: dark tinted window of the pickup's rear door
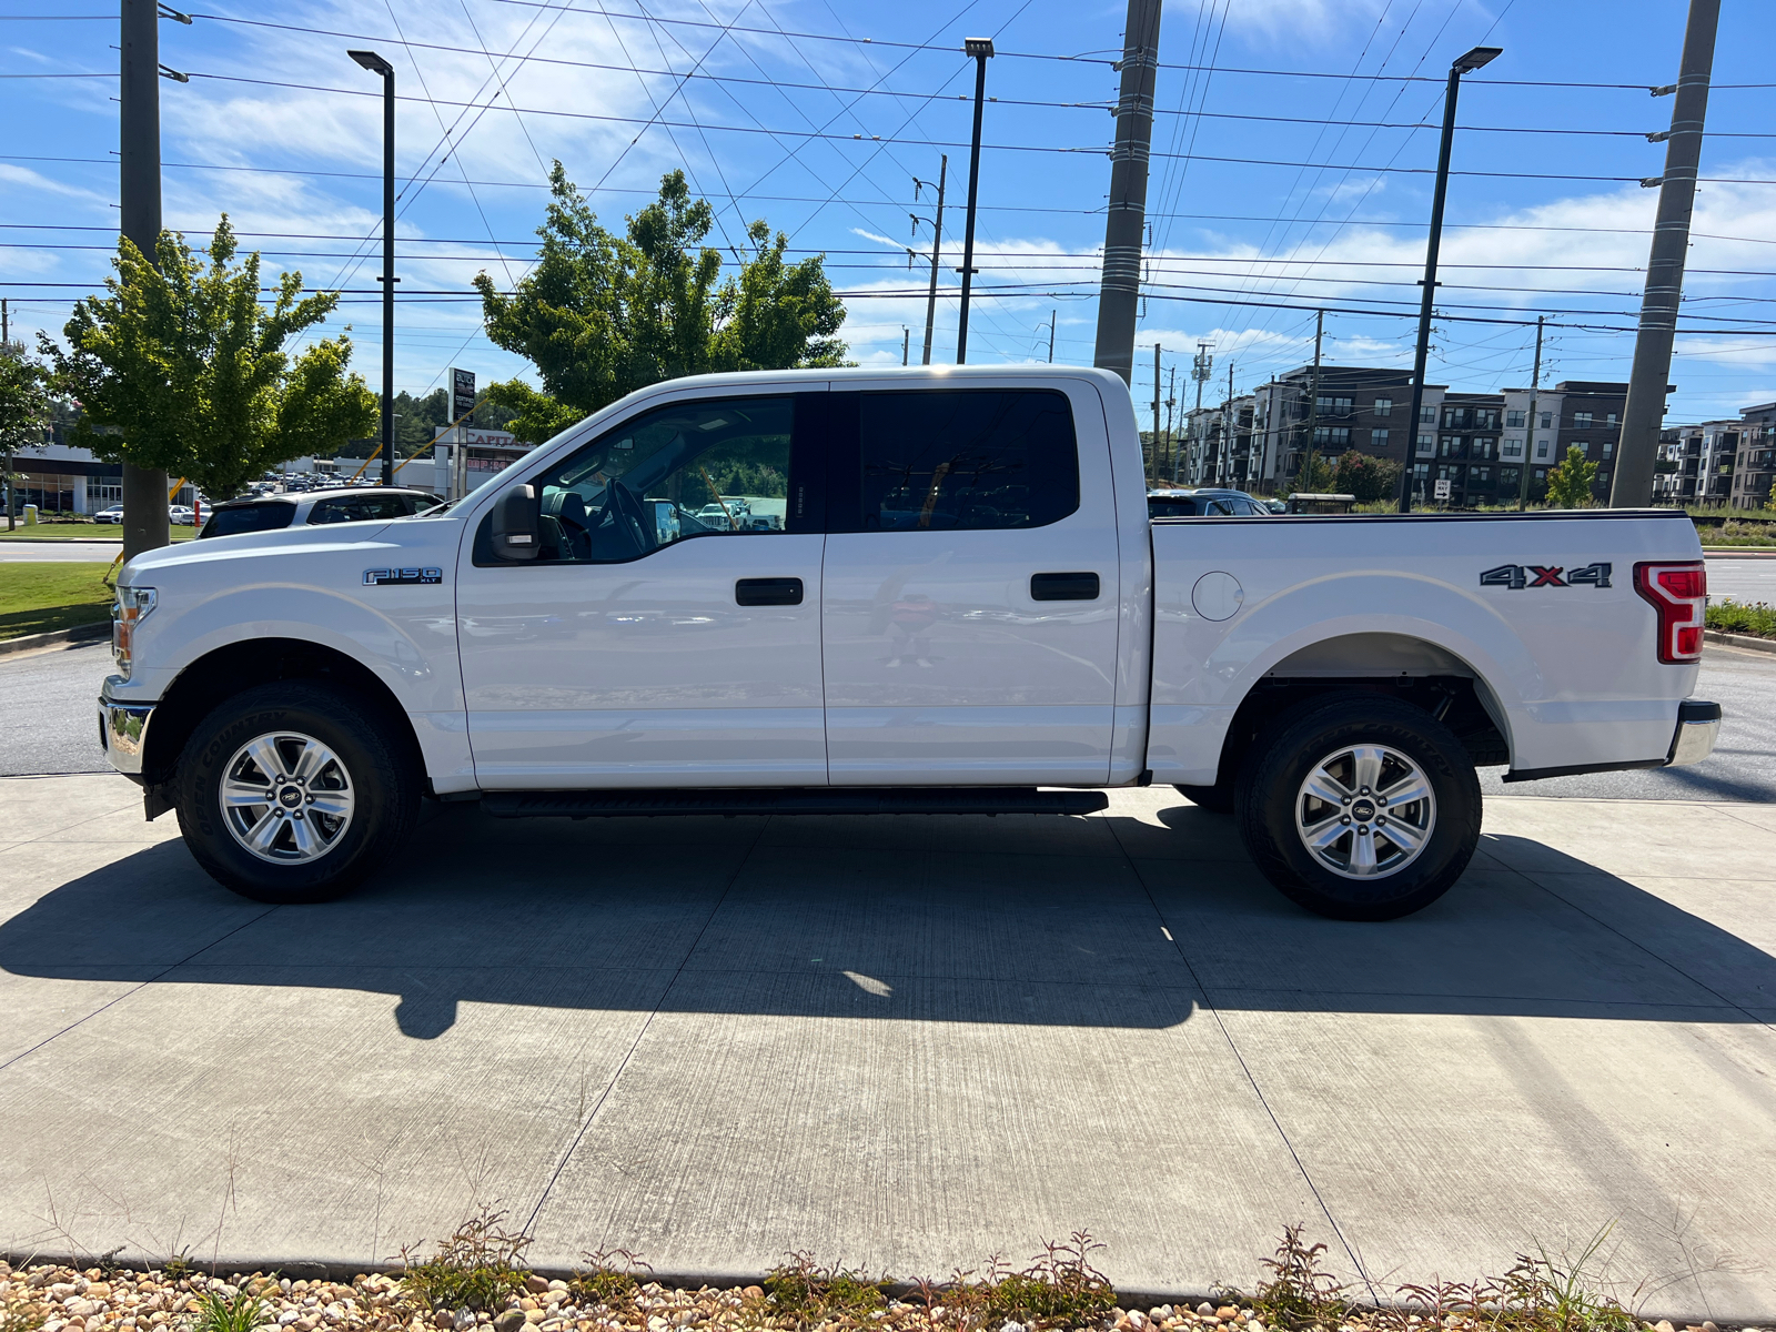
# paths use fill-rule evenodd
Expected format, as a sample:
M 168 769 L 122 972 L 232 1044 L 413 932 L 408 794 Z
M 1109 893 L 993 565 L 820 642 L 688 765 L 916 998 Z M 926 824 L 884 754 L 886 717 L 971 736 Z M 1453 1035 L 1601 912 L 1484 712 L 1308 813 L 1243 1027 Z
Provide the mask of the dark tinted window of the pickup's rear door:
M 1080 506 L 1064 392 L 835 394 L 833 408 L 833 531 L 1044 527 Z

